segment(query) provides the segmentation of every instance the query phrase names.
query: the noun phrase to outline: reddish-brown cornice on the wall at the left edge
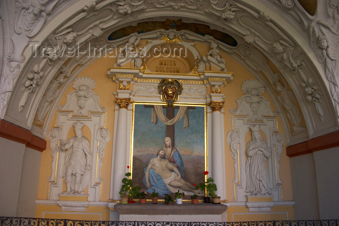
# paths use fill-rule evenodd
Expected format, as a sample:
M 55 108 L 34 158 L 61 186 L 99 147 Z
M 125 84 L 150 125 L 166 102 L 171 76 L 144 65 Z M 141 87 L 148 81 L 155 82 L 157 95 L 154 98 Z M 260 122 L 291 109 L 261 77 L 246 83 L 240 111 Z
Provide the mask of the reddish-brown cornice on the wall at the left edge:
M 46 140 L 32 135 L 31 131 L 0 119 L 0 137 L 26 145 L 37 151 L 46 150 Z

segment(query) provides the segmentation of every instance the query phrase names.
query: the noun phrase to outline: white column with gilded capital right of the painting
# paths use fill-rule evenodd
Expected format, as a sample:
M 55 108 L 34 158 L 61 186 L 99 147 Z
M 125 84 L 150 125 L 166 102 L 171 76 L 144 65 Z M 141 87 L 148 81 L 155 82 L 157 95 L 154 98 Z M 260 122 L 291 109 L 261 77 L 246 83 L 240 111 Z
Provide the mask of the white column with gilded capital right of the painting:
M 216 194 L 220 200 L 226 199 L 226 180 L 225 180 L 225 155 L 223 150 L 221 109 L 224 101 L 211 101 L 212 109 L 212 178 L 217 186 Z

